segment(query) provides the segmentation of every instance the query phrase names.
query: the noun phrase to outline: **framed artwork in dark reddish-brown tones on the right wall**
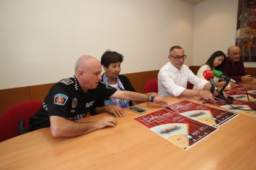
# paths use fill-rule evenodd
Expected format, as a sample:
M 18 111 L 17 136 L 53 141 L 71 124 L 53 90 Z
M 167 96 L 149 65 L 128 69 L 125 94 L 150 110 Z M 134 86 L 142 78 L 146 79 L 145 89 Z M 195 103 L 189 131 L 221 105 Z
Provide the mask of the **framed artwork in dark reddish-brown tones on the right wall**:
M 239 0 L 236 45 L 244 62 L 256 62 L 256 0 Z

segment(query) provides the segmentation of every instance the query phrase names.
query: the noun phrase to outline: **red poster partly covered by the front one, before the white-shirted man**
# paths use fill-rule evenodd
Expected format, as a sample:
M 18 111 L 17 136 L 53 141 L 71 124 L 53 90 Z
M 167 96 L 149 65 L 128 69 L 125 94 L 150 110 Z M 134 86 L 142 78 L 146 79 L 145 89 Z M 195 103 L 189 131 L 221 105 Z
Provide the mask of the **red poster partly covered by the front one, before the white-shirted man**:
M 200 105 L 187 100 L 174 103 L 173 105 L 168 105 L 168 107 L 175 113 L 179 113 L 187 118 L 194 119 L 195 121 L 200 121 L 215 127 L 221 126 L 237 116 L 237 113 L 208 107 L 206 105 Z

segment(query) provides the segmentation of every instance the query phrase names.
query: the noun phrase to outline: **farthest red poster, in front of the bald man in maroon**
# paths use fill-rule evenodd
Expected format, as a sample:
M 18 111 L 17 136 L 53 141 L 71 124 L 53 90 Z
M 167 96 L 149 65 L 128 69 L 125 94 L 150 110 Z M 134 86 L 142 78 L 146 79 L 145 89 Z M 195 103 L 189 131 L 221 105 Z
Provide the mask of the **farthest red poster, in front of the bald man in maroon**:
M 247 99 L 247 94 L 246 92 L 239 92 L 239 91 L 231 91 L 231 90 L 224 90 L 224 92 L 231 96 L 231 97 L 234 97 L 234 99 L 237 99 L 237 100 L 243 100 L 243 101 L 246 101 L 246 102 L 255 102 L 256 101 L 256 94 L 248 94 L 248 97 L 249 97 L 249 100 Z

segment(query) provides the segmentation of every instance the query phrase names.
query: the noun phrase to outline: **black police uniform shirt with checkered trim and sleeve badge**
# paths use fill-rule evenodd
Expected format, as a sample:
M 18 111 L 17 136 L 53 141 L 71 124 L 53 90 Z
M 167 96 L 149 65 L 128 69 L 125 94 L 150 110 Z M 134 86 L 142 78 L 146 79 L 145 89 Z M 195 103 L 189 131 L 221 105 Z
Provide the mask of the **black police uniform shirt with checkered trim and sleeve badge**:
M 95 101 L 105 100 L 117 90 L 107 84 L 99 83 L 96 89 L 83 92 L 79 82 L 75 78 L 62 79 L 50 89 L 43 101 L 43 105 L 30 118 L 28 131 L 35 131 L 43 127 L 49 127 L 49 116 L 61 116 L 69 120 L 84 118 L 87 112 L 93 113 Z

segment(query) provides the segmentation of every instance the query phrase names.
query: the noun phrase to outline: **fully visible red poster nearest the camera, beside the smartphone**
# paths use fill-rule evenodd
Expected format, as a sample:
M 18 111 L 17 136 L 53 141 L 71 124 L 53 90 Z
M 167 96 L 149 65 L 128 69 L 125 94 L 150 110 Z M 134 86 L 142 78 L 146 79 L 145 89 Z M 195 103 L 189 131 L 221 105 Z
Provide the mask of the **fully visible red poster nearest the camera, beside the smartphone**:
M 134 118 L 151 131 L 187 150 L 217 128 L 179 115 L 168 108 Z

